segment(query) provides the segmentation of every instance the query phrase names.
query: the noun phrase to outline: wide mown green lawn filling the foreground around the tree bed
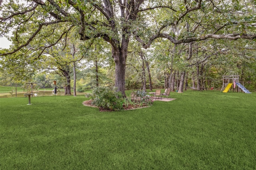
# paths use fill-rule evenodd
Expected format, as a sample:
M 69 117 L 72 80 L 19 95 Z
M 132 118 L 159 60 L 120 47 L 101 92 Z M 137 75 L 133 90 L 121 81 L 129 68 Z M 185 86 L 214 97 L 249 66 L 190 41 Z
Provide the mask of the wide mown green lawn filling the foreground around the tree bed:
M 171 96 L 116 112 L 84 96 L 1 98 L 0 169 L 256 169 L 255 92 Z

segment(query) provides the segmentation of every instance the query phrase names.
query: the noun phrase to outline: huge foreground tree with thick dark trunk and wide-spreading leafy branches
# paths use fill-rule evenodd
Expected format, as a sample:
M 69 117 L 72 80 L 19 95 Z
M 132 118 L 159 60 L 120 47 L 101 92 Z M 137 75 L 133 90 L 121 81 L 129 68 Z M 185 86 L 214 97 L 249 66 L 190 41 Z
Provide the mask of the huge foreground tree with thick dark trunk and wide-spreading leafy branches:
M 12 31 L 13 45 L 0 56 L 30 54 L 32 60 L 38 59 L 71 32 L 82 41 L 101 37 L 112 47 L 115 86 L 125 95 L 130 41 L 140 42 L 145 49 L 162 38 L 174 44 L 206 39 L 255 41 L 255 8 L 252 0 L 1 1 L 0 36 Z

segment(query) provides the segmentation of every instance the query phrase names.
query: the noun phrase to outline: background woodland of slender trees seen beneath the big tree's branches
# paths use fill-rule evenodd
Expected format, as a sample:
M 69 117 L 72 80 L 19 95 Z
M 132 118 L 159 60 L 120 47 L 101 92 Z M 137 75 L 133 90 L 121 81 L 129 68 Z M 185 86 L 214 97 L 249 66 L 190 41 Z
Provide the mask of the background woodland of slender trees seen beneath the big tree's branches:
M 162 40 L 155 43 L 151 49 L 144 50 L 138 48 L 135 42 L 134 46 L 129 48 L 125 89 L 150 89 L 150 82 L 151 88 L 171 88 L 172 91 L 180 90 L 180 92 L 189 87 L 218 89 L 222 86 L 222 75 L 230 70 L 240 74 L 240 82 L 244 82 L 246 88 L 256 89 L 255 49 L 248 49 L 244 40 L 230 41 L 228 45 L 225 41 L 222 44 L 220 41 L 208 43 L 210 45 L 205 44 L 204 47 L 200 43 L 177 46 Z M 97 42 L 97 45 L 100 45 L 100 42 Z M 96 86 L 114 86 L 114 63 L 110 49 L 107 44 L 100 46 L 91 48 L 87 57 L 76 62 L 76 91 L 82 92 L 84 89 Z M 193 55 L 188 60 L 187 56 L 191 47 L 194 47 Z M 218 51 L 218 49 L 222 50 Z M 63 58 L 62 55 L 58 57 Z M 49 60 L 49 57 L 47 59 Z M 58 61 L 60 62 L 60 59 Z M 38 65 L 41 67 L 20 78 L 15 76 L 15 74 L 20 75 L 20 72 L 1 72 L 1 85 L 8 85 L 10 82 L 32 81 L 38 82 L 37 85 L 41 88 L 53 88 L 52 82 L 57 80 L 60 88 L 64 88 L 70 80 L 70 88 L 73 89 L 74 70 L 72 70 L 73 65 L 70 61 L 72 61 L 71 57 L 64 64 L 69 78 L 61 74 L 63 68 L 60 70 L 56 63 L 51 63 L 50 67 L 46 61 L 38 60 L 47 67 L 35 63 L 33 68 Z M 182 81 L 184 87 L 180 89 Z

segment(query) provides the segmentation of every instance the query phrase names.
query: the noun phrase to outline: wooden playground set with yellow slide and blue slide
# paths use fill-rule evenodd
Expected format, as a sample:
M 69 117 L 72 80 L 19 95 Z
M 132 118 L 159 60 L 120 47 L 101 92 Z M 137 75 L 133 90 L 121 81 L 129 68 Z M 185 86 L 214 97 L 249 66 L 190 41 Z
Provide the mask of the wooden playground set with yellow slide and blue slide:
M 222 77 L 223 77 L 223 85 L 222 85 L 220 92 L 223 90 L 222 91 L 223 93 L 227 93 L 227 92 L 229 92 L 230 88 L 232 88 L 232 87 L 233 87 L 233 92 L 234 92 L 234 89 L 237 86 L 238 92 L 241 89 L 245 93 L 252 93 L 252 92 L 249 92 L 249 90 L 247 90 L 243 86 L 244 84 L 243 85 L 241 84 L 243 82 L 239 82 L 239 75 L 237 72 L 228 71 L 228 72 L 225 72 L 225 74 Z

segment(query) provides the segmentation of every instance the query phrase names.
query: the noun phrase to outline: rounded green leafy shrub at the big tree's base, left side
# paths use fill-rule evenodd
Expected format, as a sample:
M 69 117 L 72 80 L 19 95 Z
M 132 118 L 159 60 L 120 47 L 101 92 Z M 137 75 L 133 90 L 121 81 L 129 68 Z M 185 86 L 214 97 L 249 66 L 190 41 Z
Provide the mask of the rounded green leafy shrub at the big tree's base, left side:
M 92 89 L 92 104 L 103 109 L 123 109 L 122 93 L 116 92 L 115 88 L 96 87 Z

